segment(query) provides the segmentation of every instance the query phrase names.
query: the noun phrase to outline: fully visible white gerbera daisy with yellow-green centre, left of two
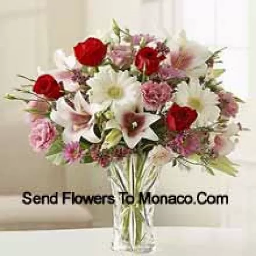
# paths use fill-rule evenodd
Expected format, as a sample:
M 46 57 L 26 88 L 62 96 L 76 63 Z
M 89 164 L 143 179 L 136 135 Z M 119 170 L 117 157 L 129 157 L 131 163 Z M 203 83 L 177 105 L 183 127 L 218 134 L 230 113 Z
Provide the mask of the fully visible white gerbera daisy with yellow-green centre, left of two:
M 111 105 L 115 110 L 126 105 L 136 105 L 140 97 L 140 82 L 131 77 L 128 71 L 115 72 L 103 67 L 99 73 L 87 81 L 90 103 Z

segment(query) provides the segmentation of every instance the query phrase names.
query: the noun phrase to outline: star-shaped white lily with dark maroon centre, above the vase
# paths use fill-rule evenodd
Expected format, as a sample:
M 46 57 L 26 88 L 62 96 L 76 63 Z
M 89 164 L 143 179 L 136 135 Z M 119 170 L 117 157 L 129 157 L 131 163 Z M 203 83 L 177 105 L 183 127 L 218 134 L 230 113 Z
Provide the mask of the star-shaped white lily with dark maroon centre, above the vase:
M 129 148 L 134 148 L 142 138 L 157 141 L 158 136 L 150 128 L 160 116 L 147 112 L 135 112 L 132 108 L 115 111 L 115 119 L 106 123 L 106 129 L 118 129 Z

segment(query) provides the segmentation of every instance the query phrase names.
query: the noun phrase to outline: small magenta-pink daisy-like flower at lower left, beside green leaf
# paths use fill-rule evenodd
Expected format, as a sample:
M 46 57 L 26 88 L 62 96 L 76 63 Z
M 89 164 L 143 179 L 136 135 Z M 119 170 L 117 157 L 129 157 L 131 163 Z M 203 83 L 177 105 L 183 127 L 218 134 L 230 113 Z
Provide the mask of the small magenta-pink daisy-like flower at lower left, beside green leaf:
M 82 150 L 82 148 L 80 147 L 80 144 L 78 141 L 76 142 L 70 142 L 68 144 L 65 145 L 64 148 L 64 159 L 72 164 L 76 161 L 80 161 L 81 158 L 84 155 L 84 151 Z

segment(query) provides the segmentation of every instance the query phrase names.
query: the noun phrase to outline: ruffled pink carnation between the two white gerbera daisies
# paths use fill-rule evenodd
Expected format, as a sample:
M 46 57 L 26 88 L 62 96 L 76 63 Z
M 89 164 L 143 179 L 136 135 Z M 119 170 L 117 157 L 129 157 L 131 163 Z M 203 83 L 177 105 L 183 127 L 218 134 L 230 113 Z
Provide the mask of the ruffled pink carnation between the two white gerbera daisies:
M 146 82 L 141 86 L 143 103 L 147 110 L 158 110 L 170 99 L 172 89 L 166 82 Z

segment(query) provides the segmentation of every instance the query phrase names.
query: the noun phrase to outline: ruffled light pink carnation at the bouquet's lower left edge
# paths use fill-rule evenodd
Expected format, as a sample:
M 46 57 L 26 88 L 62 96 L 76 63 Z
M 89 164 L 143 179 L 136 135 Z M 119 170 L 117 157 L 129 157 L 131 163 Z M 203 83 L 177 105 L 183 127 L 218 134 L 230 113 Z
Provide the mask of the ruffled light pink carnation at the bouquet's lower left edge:
M 47 118 L 40 118 L 32 123 L 29 142 L 34 151 L 47 150 L 56 137 L 56 128 Z

